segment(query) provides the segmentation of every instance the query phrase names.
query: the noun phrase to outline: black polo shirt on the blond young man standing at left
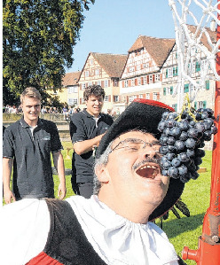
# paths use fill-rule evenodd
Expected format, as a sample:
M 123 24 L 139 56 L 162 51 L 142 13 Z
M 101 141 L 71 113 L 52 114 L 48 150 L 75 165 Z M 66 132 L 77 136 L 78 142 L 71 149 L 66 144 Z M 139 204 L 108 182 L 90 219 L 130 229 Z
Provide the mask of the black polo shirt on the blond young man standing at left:
M 33 136 L 23 118 L 5 129 L 3 157 L 14 159 L 12 191 L 16 199 L 54 198 L 51 152 L 62 149 L 52 121 L 38 119 Z

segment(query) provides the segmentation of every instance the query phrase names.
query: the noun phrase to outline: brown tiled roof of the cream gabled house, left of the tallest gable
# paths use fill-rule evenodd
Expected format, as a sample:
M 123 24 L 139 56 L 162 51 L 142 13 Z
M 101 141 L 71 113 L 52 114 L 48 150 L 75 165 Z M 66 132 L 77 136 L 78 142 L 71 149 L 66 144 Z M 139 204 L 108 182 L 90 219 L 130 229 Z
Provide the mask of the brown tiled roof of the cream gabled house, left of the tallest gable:
M 110 77 L 120 77 L 128 55 L 90 52 Z

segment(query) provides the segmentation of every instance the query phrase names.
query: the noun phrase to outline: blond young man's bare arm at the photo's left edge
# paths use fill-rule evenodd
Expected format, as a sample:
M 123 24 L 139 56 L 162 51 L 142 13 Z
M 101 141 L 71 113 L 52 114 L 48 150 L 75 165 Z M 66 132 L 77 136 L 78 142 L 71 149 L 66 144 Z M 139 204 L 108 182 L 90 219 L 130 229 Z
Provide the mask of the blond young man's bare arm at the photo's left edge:
M 12 200 L 16 201 L 10 189 L 12 165 L 13 165 L 13 159 L 3 158 L 3 188 L 4 188 L 4 201 L 6 204 L 11 203 Z

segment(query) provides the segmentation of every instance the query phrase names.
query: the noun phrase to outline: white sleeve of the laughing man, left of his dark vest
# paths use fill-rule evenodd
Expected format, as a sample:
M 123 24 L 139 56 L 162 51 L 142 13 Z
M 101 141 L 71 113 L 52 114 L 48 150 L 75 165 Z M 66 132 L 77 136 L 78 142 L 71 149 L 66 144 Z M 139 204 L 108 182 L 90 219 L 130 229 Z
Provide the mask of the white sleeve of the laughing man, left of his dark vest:
M 43 199 L 22 199 L 3 207 L 1 264 L 22 265 L 43 251 L 50 214 Z

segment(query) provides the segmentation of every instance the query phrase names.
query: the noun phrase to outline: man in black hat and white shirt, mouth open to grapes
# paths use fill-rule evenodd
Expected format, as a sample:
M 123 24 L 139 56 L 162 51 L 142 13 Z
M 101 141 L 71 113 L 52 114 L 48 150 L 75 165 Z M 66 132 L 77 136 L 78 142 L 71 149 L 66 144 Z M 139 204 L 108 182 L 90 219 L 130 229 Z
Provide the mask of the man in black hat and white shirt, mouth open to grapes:
M 126 108 L 98 145 L 90 199 L 26 199 L 4 207 L 3 264 L 184 264 L 151 222 L 185 186 L 161 174 L 157 126 L 162 113 L 173 111 L 145 99 Z

